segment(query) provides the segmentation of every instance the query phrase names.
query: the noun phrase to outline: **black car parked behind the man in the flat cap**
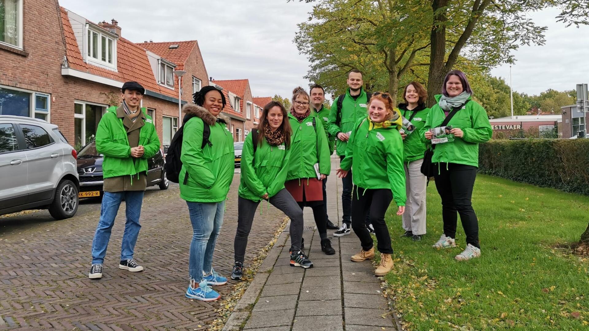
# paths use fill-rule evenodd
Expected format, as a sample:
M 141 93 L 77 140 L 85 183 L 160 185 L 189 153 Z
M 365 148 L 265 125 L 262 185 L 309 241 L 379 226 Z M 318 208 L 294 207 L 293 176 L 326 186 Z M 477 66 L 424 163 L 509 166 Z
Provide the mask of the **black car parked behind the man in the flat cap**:
M 94 140 L 78 151 L 78 174 L 80 175 L 80 197 L 102 196 L 102 155 L 96 150 Z M 161 150 L 147 160 L 147 186 L 160 186 L 166 190 L 170 185 L 164 166 L 166 159 Z

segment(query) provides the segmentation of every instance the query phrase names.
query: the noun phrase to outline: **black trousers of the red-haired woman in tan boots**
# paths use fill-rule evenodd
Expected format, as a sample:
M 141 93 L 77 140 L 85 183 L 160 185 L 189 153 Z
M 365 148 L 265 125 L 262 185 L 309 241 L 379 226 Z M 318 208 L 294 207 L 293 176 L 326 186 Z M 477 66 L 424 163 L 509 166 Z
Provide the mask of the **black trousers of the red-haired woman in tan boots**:
M 349 176 L 349 175 L 348 175 Z M 385 223 L 385 213 L 393 200 L 393 193 L 388 188 L 365 190 L 355 186 L 352 197 L 352 229 L 360 239 L 363 250 L 371 249 L 374 244 L 370 232 L 366 229 L 366 216 L 370 213 L 370 222 L 374 227 L 378 250 L 383 254 L 392 254 L 391 236 Z

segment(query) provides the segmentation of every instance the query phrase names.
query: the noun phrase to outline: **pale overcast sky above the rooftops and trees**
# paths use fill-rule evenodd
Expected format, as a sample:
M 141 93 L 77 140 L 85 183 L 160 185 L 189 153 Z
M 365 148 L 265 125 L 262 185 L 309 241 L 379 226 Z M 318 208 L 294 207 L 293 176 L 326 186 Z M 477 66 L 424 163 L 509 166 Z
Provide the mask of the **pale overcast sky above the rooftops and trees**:
M 303 78 L 309 63 L 292 41 L 311 4 L 286 0 L 102 0 L 100 5 L 59 0 L 59 4 L 90 21 L 117 19 L 123 37 L 134 42 L 197 39 L 209 76 L 248 78 L 254 97 L 289 97 L 294 87 L 309 87 Z M 589 82 L 589 28 L 564 28 L 554 22 L 557 14 L 554 10 L 534 14 L 538 24 L 549 27 L 546 45 L 521 47 L 515 53 L 514 90 L 538 94 L 548 88 L 572 90 L 577 83 Z M 492 74 L 509 81 L 509 65 Z

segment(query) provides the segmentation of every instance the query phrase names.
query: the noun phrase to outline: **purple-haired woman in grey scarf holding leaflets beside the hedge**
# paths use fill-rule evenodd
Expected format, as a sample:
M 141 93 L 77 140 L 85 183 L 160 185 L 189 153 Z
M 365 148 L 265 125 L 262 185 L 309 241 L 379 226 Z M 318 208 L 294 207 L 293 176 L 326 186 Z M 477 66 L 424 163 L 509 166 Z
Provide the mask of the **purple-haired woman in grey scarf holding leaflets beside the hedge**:
M 432 163 L 438 164 L 434 176 L 436 189 L 442 198 L 444 233 L 434 244 L 436 249 L 456 247 L 456 211 L 460 214 L 466 233 L 466 249 L 456 255 L 456 260 L 470 260 L 481 256 L 478 238 L 478 220 L 472 209 L 472 188 L 478 169 L 478 144 L 491 139 L 493 131 L 487 112 L 472 101 L 472 90 L 464 72 L 452 70 L 444 78 L 442 94 L 436 95 L 437 104 L 429 112 L 423 136 L 431 140 L 429 129 L 440 127 L 446 117 L 446 125 L 452 126 L 454 141 L 436 144 Z M 423 132 L 423 131 L 422 131 Z

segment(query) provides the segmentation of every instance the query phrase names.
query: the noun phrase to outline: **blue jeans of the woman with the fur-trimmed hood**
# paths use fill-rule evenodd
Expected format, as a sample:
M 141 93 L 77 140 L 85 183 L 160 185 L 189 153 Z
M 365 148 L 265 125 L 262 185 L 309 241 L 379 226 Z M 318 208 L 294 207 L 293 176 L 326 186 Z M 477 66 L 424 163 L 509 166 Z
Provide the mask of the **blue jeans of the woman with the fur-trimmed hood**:
M 186 204 L 188 204 L 193 231 L 188 273 L 190 279 L 200 282 L 203 279 L 203 271 L 209 273 L 213 269 L 213 251 L 223 225 L 225 201 L 219 203 L 186 201 Z

